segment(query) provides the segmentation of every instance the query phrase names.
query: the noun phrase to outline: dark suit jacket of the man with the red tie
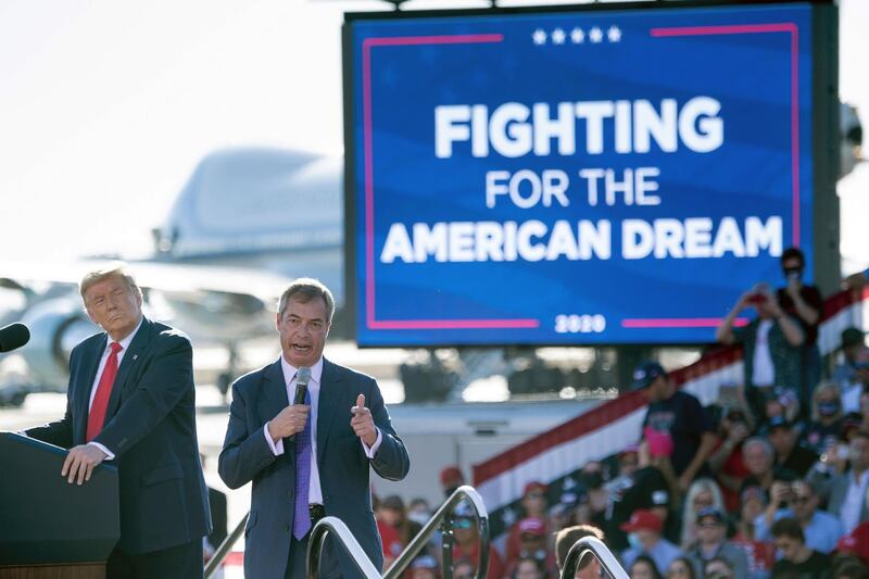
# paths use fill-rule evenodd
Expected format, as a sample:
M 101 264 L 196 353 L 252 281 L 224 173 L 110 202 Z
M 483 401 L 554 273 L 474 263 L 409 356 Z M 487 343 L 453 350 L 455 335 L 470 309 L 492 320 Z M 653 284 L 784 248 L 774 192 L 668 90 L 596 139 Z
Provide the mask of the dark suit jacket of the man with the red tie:
M 86 442 L 90 391 L 105 345 L 101 332 L 73 349 L 66 414 L 27 436 L 67 449 Z M 125 553 L 189 543 L 211 531 L 197 444 L 192 355 L 184 333 L 146 318 L 117 369 L 105 426 L 95 442 L 115 454 L 110 464 L 117 466 L 119 478 L 117 549 Z

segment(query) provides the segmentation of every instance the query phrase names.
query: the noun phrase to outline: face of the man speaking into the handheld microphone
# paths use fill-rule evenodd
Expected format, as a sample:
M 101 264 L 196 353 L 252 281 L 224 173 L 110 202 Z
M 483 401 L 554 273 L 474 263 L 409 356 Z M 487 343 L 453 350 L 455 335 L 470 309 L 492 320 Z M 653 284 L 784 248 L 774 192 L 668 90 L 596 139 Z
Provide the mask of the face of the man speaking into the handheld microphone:
M 329 336 L 326 302 L 314 298 L 307 302 L 287 300 L 284 314 L 277 314 L 275 326 L 280 335 L 284 358 L 297 368 L 311 367 L 323 355 Z

